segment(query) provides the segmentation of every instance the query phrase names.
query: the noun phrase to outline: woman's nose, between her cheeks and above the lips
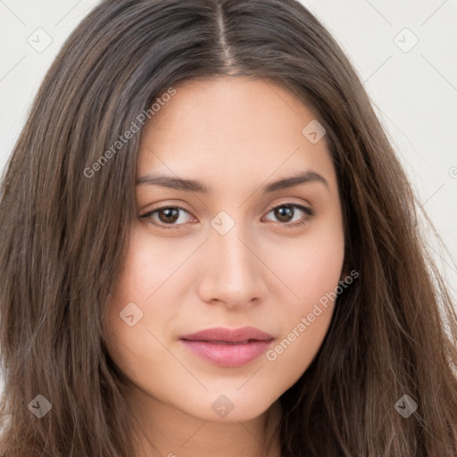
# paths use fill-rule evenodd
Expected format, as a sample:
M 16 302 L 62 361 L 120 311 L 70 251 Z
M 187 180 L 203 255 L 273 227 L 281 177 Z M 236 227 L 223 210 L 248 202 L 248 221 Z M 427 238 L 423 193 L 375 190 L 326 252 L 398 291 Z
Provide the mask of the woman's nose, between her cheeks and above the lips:
M 204 302 L 237 308 L 264 301 L 268 269 L 255 252 L 258 246 L 249 242 L 237 225 L 225 235 L 212 231 L 205 245 L 198 284 Z

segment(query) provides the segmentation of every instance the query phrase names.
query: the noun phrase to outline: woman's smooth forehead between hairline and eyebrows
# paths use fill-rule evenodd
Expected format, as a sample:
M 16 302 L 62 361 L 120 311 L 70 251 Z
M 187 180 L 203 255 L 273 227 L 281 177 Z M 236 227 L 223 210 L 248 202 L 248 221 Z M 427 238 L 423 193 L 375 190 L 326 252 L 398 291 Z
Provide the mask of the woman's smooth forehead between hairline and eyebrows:
M 137 175 L 200 179 L 216 188 L 313 170 L 335 185 L 325 137 L 303 128 L 316 116 L 294 94 L 266 79 L 220 77 L 174 87 L 142 132 Z

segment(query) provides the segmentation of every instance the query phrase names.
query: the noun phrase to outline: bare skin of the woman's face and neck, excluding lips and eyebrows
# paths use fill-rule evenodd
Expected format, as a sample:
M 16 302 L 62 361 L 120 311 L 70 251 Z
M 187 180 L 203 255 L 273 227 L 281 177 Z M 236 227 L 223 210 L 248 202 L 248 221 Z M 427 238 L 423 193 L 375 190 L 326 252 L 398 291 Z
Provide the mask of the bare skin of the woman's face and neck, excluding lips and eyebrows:
M 297 325 L 342 278 L 336 172 L 326 138 L 312 144 L 302 134 L 315 115 L 273 82 L 220 77 L 175 88 L 142 132 L 137 178 L 195 179 L 212 192 L 137 185 L 127 261 L 104 321 L 107 349 L 129 378 L 129 405 L 144 427 L 145 436 L 141 427 L 133 430 L 138 456 L 277 457 L 278 397 L 319 351 L 333 303 L 320 306 L 298 337 Z M 266 184 L 308 170 L 327 185 L 262 193 Z M 170 210 L 141 217 L 176 204 L 186 210 L 179 220 L 170 221 Z M 287 219 L 284 208 L 272 211 L 279 204 L 315 214 L 306 220 L 293 207 Z M 235 222 L 224 235 L 211 225 L 221 211 Z M 120 319 L 128 303 L 143 312 L 132 327 Z M 262 354 L 230 368 L 204 361 L 179 340 L 219 326 L 260 328 L 275 338 L 273 349 L 295 328 L 295 341 L 274 361 Z M 233 403 L 225 417 L 212 409 L 220 395 Z

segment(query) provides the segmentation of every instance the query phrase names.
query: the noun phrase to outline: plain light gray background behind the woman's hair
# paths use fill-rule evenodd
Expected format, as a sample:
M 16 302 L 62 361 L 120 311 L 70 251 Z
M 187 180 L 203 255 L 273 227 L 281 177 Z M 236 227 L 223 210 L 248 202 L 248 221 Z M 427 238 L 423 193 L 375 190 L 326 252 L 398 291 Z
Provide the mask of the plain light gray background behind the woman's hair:
M 46 70 L 72 29 L 98 3 L 0 0 L 0 171 Z M 455 296 L 456 0 L 303 0 L 303 4 L 336 37 L 364 81 L 422 207 L 449 250 L 440 251 L 434 239 L 428 239 Z M 29 44 L 46 45 L 45 32 L 37 29 L 52 38 L 45 50 L 38 49 L 42 52 Z

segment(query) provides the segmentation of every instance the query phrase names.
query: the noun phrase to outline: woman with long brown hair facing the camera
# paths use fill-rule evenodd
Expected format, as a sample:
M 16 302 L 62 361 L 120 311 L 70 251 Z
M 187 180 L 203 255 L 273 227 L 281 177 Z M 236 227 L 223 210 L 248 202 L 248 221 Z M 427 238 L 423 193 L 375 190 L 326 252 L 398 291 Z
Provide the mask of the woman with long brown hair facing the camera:
M 100 4 L 4 174 L 0 452 L 457 455 L 415 203 L 301 4 Z

